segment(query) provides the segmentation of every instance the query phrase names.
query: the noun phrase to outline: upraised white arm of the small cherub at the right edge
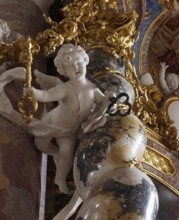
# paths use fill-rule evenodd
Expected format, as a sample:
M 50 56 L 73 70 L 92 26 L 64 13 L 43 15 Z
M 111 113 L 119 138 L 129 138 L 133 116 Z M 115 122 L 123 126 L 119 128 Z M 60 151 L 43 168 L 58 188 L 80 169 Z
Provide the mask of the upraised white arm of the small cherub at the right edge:
M 160 71 L 159 71 L 159 85 L 164 96 L 169 96 L 171 94 L 170 89 L 168 88 L 167 82 L 165 80 L 165 73 L 168 65 L 165 63 L 160 63 Z

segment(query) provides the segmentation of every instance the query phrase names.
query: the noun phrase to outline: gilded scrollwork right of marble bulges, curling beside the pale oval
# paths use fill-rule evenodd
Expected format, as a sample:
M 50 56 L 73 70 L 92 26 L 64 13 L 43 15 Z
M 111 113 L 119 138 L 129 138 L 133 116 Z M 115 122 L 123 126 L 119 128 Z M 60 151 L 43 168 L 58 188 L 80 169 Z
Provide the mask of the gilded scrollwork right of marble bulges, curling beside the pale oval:
M 177 129 L 168 116 L 168 107 L 166 107 L 173 102 L 174 97 L 176 99 L 176 95 L 172 95 L 163 101 L 162 92 L 158 85 L 144 86 L 139 81 L 136 82 L 133 84 L 136 92 L 133 111 L 146 127 L 151 128 L 163 137 L 168 148 L 178 151 Z

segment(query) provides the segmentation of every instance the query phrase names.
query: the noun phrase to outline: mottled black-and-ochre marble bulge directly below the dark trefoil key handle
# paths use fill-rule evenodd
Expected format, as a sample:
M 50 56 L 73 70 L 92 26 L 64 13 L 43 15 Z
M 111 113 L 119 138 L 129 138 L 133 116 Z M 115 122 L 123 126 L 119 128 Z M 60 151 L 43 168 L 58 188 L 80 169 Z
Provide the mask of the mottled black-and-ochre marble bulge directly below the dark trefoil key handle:
M 141 160 L 146 147 L 145 130 L 133 114 L 109 116 L 106 125 L 85 135 L 74 159 L 74 180 L 82 199 L 114 169 Z

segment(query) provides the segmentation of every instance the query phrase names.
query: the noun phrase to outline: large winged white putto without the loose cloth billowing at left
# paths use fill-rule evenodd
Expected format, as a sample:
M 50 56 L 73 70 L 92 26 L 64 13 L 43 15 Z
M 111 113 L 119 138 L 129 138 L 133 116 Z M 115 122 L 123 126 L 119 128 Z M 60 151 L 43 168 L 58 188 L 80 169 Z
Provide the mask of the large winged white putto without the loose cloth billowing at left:
M 68 192 L 66 177 L 73 164 L 78 129 L 82 126 L 85 132 L 90 132 L 103 126 L 109 104 L 108 98 L 86 78 L 88 62 L 89 57 L 80 46 L 64 44 L 54 59 L 54 64 L 57 72 L 67 76 L 69 81 L 64 83 L 53 77 L 53 82 L 50 82 L 49 76 L 35 71 L 37 82 L 42 88 L 47 88 L 50 84 L 53 87 L 48 90 L 32 88 L 34 97 L 39 102 L 59 102 L 56 108 L 41 119 L 45 124 L 56 125 L 58 130 L 51 134 L 37 135 L 35 144 L 39 150 L 54 157 L 55 183 L 63 193 Z M 97 115 L 86 121 L 94 104 L 99 106 Z M 53 138 L 58 147 L 52 141 Z

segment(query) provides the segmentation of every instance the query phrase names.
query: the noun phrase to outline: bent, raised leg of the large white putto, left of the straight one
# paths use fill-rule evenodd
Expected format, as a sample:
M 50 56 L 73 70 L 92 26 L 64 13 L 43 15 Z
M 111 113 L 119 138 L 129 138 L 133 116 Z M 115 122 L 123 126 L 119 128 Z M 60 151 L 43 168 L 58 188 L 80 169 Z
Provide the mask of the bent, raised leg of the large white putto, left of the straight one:
M 37 149 L 45 154 L 55 156 L 59 153 L 59 149 L 55 144 L 52 143 L 51 137 L 35 137 L 34 142 Z

